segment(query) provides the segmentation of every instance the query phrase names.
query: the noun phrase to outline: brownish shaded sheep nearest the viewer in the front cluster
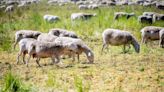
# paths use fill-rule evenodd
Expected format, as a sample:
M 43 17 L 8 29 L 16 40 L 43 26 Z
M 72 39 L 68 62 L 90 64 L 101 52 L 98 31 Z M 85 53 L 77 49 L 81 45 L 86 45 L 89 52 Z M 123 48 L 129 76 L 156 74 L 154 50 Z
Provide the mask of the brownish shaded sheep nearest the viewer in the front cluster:
M 63 55 L 65 52 L 67 52 L 68 49 L 63 47 L 60 44 L 52 43 L 52 42 L 40 42 L 40 41 L 34 41 L 30 44 L 28 49 L 28 61 L 26 62 L 28 66 L 28 62 L 33 56 L 33 58 L 36 59 L 36 63 L 40 67 L 39 64 L 40 58 L 51 58 L 52 63 L 59 63 L 60 62 L 60 56 Z M 57 61 L 55 61 L 57 60 Z

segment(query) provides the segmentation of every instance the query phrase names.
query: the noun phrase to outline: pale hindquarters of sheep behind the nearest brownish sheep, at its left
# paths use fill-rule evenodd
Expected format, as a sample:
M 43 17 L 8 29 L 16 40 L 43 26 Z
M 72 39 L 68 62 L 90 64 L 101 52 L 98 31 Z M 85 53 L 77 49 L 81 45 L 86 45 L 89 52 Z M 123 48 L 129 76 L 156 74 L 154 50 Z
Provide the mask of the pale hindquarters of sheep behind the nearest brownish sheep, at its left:
M 19 57 L 23 54 L 23 62 L 25 64 L 25 56 L 28 53 L 28 48 L 32 42 L 36 41 L 33 38 L 24 38 L 19 42 L 19 53 L 17 55 L 17 64 L 19 63 Z

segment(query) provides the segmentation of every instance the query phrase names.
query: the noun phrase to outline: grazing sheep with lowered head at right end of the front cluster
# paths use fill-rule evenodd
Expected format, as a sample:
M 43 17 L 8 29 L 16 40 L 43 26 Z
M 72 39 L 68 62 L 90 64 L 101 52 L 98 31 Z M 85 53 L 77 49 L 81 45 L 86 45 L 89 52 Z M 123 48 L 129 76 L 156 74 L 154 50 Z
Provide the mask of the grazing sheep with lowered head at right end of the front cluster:
M 68 38 L 68 37 L 58 37 L 55 39 L 56 44 L 61 44 L 64 47 L 67 47 L 71 53 L 66 53 L 68 55 L 73 56 L 73 61 L 75 60 L 74 56 L 77 54 L 78 61 L 79 61 L 79 55 L 84 52 L 87 56 L 87 59 L 89 63 L 94 62 L 94 53 L 92 50 L 81 40 L 81 39 L 74 39 L 74 38 Z

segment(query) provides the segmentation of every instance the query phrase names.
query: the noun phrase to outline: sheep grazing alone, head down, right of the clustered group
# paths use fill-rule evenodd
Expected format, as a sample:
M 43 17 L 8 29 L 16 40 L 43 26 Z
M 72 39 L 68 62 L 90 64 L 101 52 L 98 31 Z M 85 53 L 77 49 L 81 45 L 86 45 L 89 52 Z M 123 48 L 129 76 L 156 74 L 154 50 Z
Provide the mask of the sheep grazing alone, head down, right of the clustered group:
M 123 45 L 124 53 L 126 53 L 126 46 L 128 45 L 130 48 L 131 44 L 137 53 L 140 52 L 140 45 L 130 32 L 109 28 L 104 30 L 102 33 L 102 38 L 103 47 L 101 53 L 103 52 L 104 48 L 107 48 L 108 44 L 113 46 Z

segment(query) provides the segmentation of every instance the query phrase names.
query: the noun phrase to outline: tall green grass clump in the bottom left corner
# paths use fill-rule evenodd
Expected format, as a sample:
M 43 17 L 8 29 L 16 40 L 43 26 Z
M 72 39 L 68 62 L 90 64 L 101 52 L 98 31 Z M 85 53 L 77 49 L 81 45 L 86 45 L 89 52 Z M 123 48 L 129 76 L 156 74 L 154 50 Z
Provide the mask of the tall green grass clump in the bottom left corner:
M 3 83 L 1 92 L 30 92 L 30 89 L 11 71 L 4 76 Z

